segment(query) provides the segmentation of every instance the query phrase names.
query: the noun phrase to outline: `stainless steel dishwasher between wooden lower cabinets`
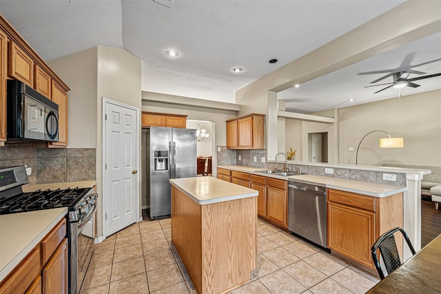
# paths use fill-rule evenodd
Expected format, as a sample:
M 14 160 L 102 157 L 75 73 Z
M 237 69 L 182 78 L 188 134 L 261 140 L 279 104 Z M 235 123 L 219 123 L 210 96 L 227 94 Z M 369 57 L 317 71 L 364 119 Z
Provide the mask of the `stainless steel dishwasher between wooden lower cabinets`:
M 326 188 L 289 181 L 288 229 L 327 248 Z

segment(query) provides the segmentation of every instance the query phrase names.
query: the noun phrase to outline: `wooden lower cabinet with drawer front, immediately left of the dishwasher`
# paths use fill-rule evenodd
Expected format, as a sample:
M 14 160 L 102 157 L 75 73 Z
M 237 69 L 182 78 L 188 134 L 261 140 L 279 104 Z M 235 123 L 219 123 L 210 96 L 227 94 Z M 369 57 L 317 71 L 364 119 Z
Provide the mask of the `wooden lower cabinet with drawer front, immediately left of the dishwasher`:
M 279 227 L 288 227 L 288 182 L 267 179 L 267 218 Z

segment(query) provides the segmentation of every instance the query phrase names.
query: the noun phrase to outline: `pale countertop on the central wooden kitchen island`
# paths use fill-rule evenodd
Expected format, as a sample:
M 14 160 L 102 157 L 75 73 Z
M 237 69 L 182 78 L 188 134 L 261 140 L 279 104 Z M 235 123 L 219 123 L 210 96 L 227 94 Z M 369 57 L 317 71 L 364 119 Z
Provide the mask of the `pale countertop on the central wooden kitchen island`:
M 170 183 L 200 205 L 258 196 L 256 190 L 212 176 L 175 178 Z

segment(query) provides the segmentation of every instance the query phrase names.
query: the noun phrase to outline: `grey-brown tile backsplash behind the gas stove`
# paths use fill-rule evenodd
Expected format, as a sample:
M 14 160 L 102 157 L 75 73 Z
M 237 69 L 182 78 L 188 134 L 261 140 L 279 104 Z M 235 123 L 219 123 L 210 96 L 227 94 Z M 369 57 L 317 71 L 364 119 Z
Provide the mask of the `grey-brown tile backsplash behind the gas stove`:
M 95 148 L 0 147 L 0 167 L 27 165 L 30 182 L 76 182 L 96 179 Z

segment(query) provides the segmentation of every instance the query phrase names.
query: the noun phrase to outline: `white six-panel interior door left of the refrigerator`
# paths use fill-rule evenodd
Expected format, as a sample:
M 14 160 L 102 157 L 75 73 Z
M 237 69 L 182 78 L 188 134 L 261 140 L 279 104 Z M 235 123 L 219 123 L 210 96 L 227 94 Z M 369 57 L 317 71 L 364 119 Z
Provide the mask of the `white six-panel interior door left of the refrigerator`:
M 105 236 L 136 222 L 137 111 L 105 101 Z

